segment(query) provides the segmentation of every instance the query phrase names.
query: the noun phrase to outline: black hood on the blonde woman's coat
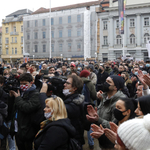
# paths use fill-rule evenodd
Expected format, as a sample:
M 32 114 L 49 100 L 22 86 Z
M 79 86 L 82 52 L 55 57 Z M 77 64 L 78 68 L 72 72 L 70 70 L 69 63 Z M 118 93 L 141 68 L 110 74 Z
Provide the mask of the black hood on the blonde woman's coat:
M 69 136 L 72 138 L 76 135 L 76 130 L 72 126 L 70 119 L 68 119 L 68 118 L 59 119 L 57 121 L 52 121 L 45 127 L 45 129 L 49 128 L 51 126 L 60 126 L 60 127 L 64 128 L 67 131 L 67 133 L 69 134 Z

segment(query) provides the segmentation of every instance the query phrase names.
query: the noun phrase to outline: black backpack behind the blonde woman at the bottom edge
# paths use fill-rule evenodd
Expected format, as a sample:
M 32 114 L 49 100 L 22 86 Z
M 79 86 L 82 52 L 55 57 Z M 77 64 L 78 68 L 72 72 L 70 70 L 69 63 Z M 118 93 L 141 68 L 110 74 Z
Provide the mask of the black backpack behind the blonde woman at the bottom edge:
M 81 150 L 78 141 L 74 138 L 69 139 L 68 150 Z

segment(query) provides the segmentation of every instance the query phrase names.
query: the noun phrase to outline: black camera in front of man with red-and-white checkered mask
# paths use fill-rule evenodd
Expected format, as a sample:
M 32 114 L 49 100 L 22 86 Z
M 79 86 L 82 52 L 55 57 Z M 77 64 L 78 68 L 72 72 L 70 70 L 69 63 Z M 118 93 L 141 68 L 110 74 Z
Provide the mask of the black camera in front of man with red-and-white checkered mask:
M 15 78 L 15 75 L 5 78 L 3 90 L 9 93 L 10 90 L 17 92 L 20 89 L 20 82 Z

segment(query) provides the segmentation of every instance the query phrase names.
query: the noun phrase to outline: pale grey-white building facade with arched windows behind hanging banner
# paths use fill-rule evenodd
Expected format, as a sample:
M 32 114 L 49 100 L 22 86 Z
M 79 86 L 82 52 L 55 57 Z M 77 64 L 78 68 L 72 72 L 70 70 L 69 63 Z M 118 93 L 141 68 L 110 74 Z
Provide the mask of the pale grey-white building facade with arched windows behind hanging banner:
M 146 60 L 146 43 L 150 39 L 150 1 L 127 1 L 124 36 L 119 33 L 118 2 L 110 0 L 109 4 L 109 8 L 104 8 L 105 12 L 97 14 L 100 21 L 99 59 L 116 60 L 124 50 L 125 55 L 130 54 L 135 60 Z

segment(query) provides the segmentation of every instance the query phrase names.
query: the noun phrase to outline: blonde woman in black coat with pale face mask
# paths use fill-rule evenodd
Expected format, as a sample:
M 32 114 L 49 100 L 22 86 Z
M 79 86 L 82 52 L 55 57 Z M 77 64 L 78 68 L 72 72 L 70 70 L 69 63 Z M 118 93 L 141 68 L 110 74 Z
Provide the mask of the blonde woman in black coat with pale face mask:
M 67 118 L 67 111 L 60 97 L 52 96 L 45 100 L 41 129 L 35 136 L 35 150 L 68 150 L 69 139 L 76 134 L 75 128 Z

